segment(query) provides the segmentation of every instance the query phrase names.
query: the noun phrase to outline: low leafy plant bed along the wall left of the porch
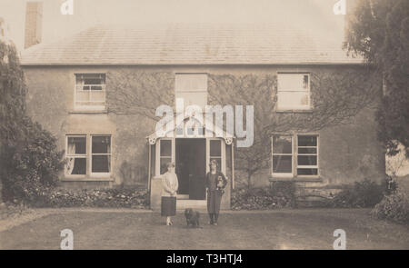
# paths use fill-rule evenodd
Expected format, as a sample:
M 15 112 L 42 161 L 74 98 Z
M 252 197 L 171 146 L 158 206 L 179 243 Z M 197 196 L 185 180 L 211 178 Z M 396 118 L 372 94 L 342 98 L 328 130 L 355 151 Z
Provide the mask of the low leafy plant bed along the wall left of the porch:
M 118 188 L 103 190 L 55 190 L 45 193 L 42 203 L 45 207 L 132 207 L 148 208 L 149 199 L 144 188 Z

